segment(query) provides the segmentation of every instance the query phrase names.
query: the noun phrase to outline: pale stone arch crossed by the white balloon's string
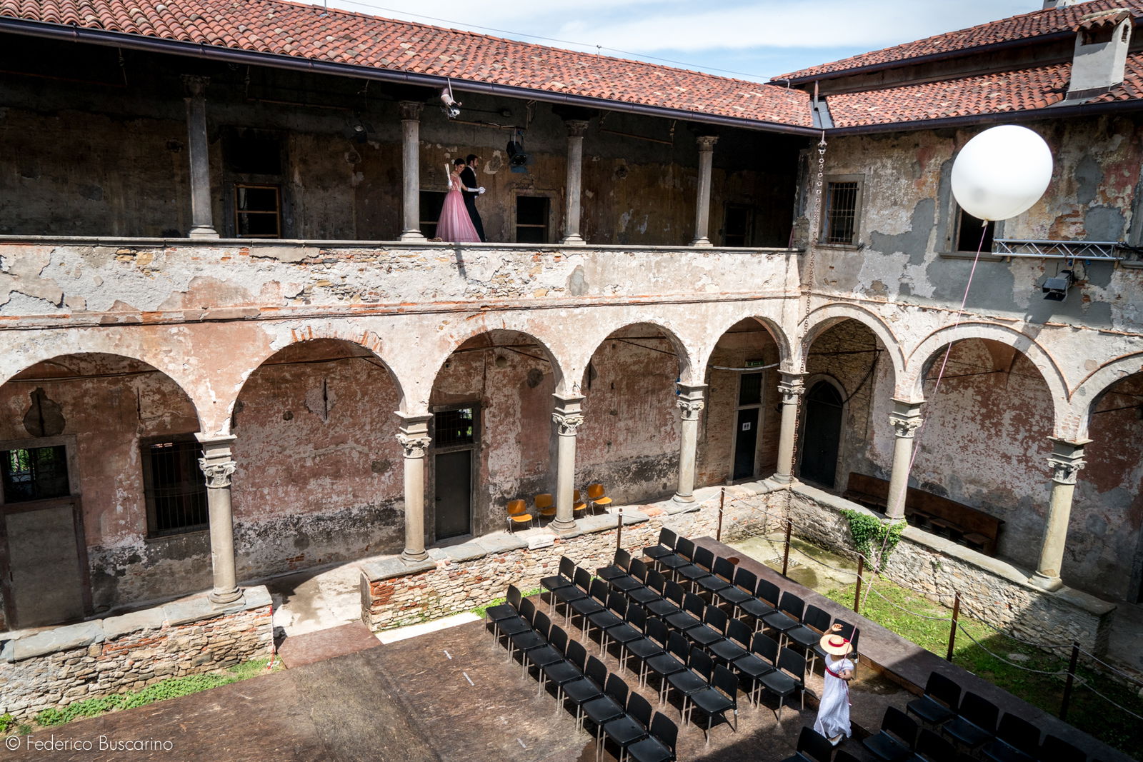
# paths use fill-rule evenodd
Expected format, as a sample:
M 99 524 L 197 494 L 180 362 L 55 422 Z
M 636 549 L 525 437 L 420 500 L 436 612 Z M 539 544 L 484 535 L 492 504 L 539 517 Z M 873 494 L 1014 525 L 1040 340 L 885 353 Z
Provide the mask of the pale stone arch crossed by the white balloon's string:
M 898 392 L 904 394 L 906 399 L 922 399 L 925 374 L 929 363 L 936 360 L 938 351 L 949 344 L 969 338 L 998 342 L 1026 356 L 1039 371 L 1052 394 L 1054 435 L 1066 435 L 1064 430 L 1069 417 L 1068 401 L 1070 395 L 1063 374 L 1047 351 L 1034 339 L 1006 326 L 964 322 L 959 326 L 949 326 L 933 331 L 909 352 L 906 358 L 908 372 L 902 378 L 902 383 L 898 384 Z

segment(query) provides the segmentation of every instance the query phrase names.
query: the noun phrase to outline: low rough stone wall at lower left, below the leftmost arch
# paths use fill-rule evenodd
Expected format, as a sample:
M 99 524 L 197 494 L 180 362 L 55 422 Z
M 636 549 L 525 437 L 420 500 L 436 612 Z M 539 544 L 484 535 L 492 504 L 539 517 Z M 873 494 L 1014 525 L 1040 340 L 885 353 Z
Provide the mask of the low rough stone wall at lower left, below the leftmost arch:
M 223 612 L 200 595 L 7 641 L 0 651 L 0 714 L 26 721 L 41 709 L 269 656 L 270 594 L 265 587 L 245 592 L 239 608 Z

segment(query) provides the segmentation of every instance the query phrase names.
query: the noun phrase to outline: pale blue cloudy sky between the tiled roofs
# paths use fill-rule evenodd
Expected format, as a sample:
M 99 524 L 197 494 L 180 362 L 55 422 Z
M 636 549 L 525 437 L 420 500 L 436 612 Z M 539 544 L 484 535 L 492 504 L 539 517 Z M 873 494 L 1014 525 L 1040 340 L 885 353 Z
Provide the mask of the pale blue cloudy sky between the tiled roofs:
M 327 1 L 376 16 L 760 81 L 1044 5 L 1041 0 Z

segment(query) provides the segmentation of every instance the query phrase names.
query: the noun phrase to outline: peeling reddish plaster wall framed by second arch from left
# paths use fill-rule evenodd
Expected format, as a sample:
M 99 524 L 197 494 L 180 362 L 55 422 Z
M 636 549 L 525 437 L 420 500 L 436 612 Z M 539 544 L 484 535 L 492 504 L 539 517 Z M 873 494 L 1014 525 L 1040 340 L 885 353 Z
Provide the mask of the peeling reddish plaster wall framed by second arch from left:
M 241 578 L 403 547 L 397 388 L 350 348 L 365 354 L 343 342 L 291 345 L 242 387 L 231 488 Z

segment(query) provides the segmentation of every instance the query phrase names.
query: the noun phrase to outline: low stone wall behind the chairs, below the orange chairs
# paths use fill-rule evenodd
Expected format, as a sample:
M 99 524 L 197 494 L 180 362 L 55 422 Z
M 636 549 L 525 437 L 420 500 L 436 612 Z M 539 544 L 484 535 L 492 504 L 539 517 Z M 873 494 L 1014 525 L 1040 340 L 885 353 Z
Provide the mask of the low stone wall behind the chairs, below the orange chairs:
M 722 538 L 736 539 L 761 534 L 766 514 L 754 508 L 774 510 L 781 491 L 769 491 L 765 483 L 727 488 L 736 500 L 727 500 Z M 717 490 L 703 490 L 704 503 L 680 506 L 660 503 L 644 511 L 625 512 L 622 544 L 629 551 L 654 545 L 664 526 L 682 536 L 714 536 L 718 527 Z M 670 513 L 678 511 L 677 513 Z M 558 537 L 554 545 L 528 550 L 527 543 L 497 535 L 464 545 L 431 552 L 430 561 L 411 570 L 399 560 L 362 563 L 362 599 L 368 624 L 376 629 L 398 627 L 424 619 L 465 611 L 503 597 L 509 585 L 521 591 L 539 586 L 542 577 L 554 575 L 560 556 L 594 571 L 610 563 L 616 548 L 618 516 L 593 516 L 580 521 L 577 534 Z M 631 522 L 631 523 L 626 523 Z M 769 518 L 769 527 L 777 526 Z

